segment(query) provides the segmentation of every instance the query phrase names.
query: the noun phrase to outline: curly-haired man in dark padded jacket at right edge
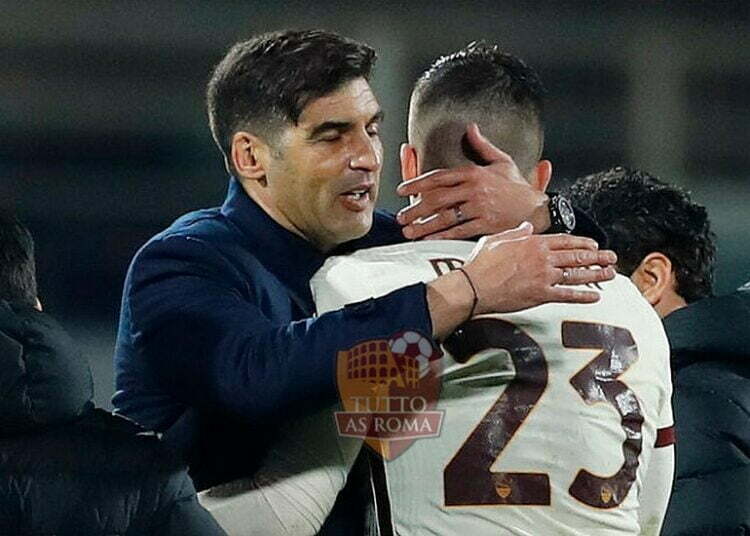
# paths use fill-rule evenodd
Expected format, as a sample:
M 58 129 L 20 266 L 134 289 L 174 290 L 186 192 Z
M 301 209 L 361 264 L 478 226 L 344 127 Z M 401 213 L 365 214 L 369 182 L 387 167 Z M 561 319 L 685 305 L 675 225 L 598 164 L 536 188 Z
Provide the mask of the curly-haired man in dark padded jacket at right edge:
M 578 179 L 571 198 L 608 234 L 617 269 L 663 318 L 672 352 L 676 480 L 662 534 L 750 530 L 750 292 L 712 297 L 706 209 L 638 170 Z

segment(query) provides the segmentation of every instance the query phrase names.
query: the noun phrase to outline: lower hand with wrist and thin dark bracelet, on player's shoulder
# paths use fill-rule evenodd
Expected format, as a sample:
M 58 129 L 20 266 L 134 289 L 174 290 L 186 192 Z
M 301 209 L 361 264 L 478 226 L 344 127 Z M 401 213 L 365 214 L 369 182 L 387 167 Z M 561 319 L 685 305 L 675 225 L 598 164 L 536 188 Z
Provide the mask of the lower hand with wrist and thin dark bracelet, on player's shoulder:
M 532 225 L 524 222 L 479 241 L 463 266 L 476 289 L 474 314 L 512 312 L 548 302 L 593 303 L 599 300 L 596 291 L 569 285 L 614 278 L 617 256 L 599 251 L 594 240 L 532 232 Z M 440 340 L 468 319 L 473 290 L 464 274 L 453 271 L 427 285 L 427 303 L 433 335 Z

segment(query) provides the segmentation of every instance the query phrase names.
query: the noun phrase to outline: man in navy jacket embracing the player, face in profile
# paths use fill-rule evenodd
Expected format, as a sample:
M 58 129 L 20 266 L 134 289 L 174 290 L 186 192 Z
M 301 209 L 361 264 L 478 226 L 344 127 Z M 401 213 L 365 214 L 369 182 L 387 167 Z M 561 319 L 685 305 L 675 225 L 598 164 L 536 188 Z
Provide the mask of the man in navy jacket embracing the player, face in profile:
M 403 239 L 392 216 L 374 211 L 383 154 L 373 58 L 322 31 L 235 45 L 208 88 L 212 131 L 233 173 L 227 199 L 178 219 L 130 266 L 114 404 L 180 446 L 200 489 L 254 474 L 279 423 L 333 403 L 340 349 L 406 328 L 439 339 L 471 310 L 472 289 L 446 274 L 313 317 L 309 280 L 327 255 Z M 503 172 L 506 163 L 446 175 Z M 526 188 L 519 222 L 546 212 L 544 200 Z M 592 240 L 530 231 L 489 237 L 471 263 L 487 272 L 488 307 L 595 301 L 555 284 L 612 277 L 581 268 L 608 265 L 611 254 Z

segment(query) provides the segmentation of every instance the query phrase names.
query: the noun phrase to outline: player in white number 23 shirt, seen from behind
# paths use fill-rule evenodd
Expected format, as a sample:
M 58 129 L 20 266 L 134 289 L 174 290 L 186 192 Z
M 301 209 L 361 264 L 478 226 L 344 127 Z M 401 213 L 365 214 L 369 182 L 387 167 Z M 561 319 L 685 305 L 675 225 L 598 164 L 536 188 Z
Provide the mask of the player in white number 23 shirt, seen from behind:
M 505 143 L 514 159 L 525 160 L 529 181 L 542 191 L 551 165 L 539 161 L 543 133 L 538 87 L 529 67 L 495 47 L 471 45 L 438 60 L 414 90 L 409 122 L 413 145 L 402 152 L 404 178 L 432 169 L 422 167 L 423 155 L 432 155 L 431 166 L 445 167 L 494 158 L 490 151 L 475 154 L 462 145 L 467 124 L 478 121 L 483 132 L 496 136 L 494 144 Z M 476 134 L 476 125 L 471 130 Z M 437 149 L 427 147 L 429 143 Z M 473 220 L 464 225 L 469 223 L 476 225 Z M 334 414 L 345 418 L 354 408 L 360 418 L 358 411 L 363 410 L 358 407 L 388 408 L 371 410 L 373 422 L 382 418 L 393 423 L 401 415 L 399 407 L 414 407 L 410 401 L 427 405 L 428 400 L 437 404 L 431 410 L 442 413 L 442 428 L 432 437 L 410 443 L 414 423 L 424 422 L 421 412 L 403 409 L 404 426 L 411 426 L 405 434 L 409 437 L 392 433 L 383 438 L 377 430 L 365 436 L 385 460 L 373 464 L 381 534 L 482 535 L 505 529 L 594 536 L 658 531 L 670 482 L 654 480 L 656 465 L 651 461 L 657 428 L 671 425 L 671 410 L 668 374 L 652 373 L 659 367 L 667 371 L 669 357 L 653 310 L 620 277 L 605 283 L 601 301 L 587 307 L 548 304 L 512 315 L 493 314 L 484 299 L 485 276 L 469 260 L 476 247 L 473 242 L 430 240 L 360 249 L 330 257 L 313 276 L 316 308 L 325 315 L 348 303 L 419 281 L 430 284 L 453 273 L 474 288 L 471 313 L 482 317 L 464 324 L 464 335 L 446 343 L 451 356 L 431 365 L 424 360 L 414 364 L 419 379 L 411 384 L 403 380 L 409 378 L 408 369 L 398 372 L 398 364 L 408 363 L 409 356 L 398 355 L 393 349 L 397 343 L 358 340 L 352 359 L 345 362 L 352 375 L 339 366 L 343 407 L 292 422 L 253 478 L 222 488 L 218 497 L 202 495 L 203 504 L 231 534 L 255 534 L 254 523 L 268 535 L 283 534 L 279 527 L 314 534 L 342 485 L 341 475 L 362 445 L 352 439 L 352 421 L 337 427 L 340 421 Z M 413 333 L 409 337 L 419 339 Z M 636 342 L 640 359 L 632 348 Z M 392 348 L 392 360 L 386 347 Z M 618 359 L 599 363 L 594 358 L 600 352 Z M 618 380 L 625 370 L 627 382 Z M 378 376 L 382 380 L 373 379 Z M 571 389 L 573 379 L 578 380 L 580 396 Z M 614 391 L 600 398 L 593 394 L 609 391 L 608 382 L 618 385 L 619 399 Z M 444 396 L 435 400 L 429 385 L 442 386 Z M 633 393 L 640 402 L 634 402 Z M 593 402 L 604 404 L 587 409 Z M 623 443 L 626 434 L 632 442 Z M 404 443 L 410 443 L 405 450 Z M 578 468 L 606 476 L 596 480 L 587 473 L 589 477 L 576 478 Z M 525 470 L 534 474 L 511 472 Z M 567 493 L 574 479 L 579 484 Z M 648 503 L 648 493 L 641 490 L 651 493 Z

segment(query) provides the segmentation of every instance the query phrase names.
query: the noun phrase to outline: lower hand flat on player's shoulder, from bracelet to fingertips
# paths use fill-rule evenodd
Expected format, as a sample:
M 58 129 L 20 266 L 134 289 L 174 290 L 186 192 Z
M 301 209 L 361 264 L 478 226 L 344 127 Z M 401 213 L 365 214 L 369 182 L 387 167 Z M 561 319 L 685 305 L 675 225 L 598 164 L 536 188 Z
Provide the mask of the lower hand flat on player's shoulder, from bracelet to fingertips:
M 530 227 L 524 223 L 477 244 L 464 265 L 477 292 L 475 314 L 518 311 L 548 302 L 593 303 L 599 300 L 598 292 L 570 286 L 615 277 L 612 265 L 617 256 L 599 251 L 594 240 L 532 235 Z

